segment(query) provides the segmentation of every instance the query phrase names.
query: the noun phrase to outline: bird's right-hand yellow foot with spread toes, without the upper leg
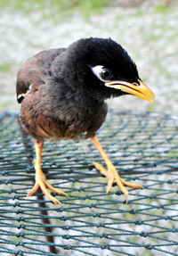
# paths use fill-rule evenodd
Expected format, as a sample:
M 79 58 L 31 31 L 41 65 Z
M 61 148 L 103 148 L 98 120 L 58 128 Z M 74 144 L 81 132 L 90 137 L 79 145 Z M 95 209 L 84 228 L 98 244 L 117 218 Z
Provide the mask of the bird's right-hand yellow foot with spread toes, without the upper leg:
M 130 186 L 134 188 L 143 188 L 140 185 L 125 181 L 124 178 L 120 178 L 120 176 L 118 175 L 117 169 L 114 167 L 114 165 L 111 162 L 108 164 L 108 170 L 105 169 L 100 163 L 96 161 L 93 161 L 91 164 L 96 169 L 101 171 L 101 173 L 109 179 L 106 192 L 109 193 L 109 191 L 112 188 L 113 182 L 115 180 L 117 182 L 117 186 L 119 186 L 122 193 L 125 194 L 126 202 L 128 202 L 128 190 L 125 188 L 125 186 Z

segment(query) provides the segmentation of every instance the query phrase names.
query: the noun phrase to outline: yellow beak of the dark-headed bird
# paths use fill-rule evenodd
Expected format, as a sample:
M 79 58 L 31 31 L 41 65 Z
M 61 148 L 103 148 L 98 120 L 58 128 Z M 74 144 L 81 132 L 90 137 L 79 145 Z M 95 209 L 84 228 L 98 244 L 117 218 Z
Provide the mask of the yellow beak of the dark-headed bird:
M 105 86 L 119 89 L 130 95 L 136 95 L 152 103 L 153 99 L 155 98 L 155 95 L 153 94 L 149 87 L 143 84 L 141 80 L 138 79 L 138 81 L 138 83 L 129 83 L 125 81 L 111 81 L 105 83 Z

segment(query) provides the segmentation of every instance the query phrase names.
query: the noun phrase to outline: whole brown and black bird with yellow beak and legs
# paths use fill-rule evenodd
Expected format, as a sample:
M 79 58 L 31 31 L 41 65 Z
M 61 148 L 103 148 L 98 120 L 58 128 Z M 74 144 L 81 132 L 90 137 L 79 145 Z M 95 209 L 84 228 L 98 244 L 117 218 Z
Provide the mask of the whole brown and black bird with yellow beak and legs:
M 20 67 L 16 94 L 21 126 L 34 138 L 36 149 L 35 185 L 28 196 L 40 188 L 53 203 L 61 202 L 50 191 L 68 196 L 52 186 L 42 170 L 46 139 L 90 139 L 107 167 L 91 163 L 108 179 L 107 193 L 117 183 L 127 201 L 126 186 L 142 188 L 119 176 L 96 136 L 106 119 L 107 99 L 135 95 L 153 102 L 155 98 L 123 46 L 110 37 L 86 37 L 68 47 L 44 50 Z

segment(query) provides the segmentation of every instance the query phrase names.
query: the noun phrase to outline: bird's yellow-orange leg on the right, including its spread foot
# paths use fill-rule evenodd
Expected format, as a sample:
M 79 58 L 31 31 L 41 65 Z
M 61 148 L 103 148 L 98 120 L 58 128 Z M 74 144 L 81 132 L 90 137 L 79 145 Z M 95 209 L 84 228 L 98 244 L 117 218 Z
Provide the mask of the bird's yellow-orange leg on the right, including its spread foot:
M 109 191 L 112 188 L 114 180 L 116 180 L 117 186 L 119 186 L 122 193 L 125 194 L 125 198 L 126 198 L 126 202 L 127 202 L 127 200 L 128 200 L 128 190 L 125 188 L 125 186 L 130 186 L 130 187 L 134 187 L 134 188 L 142 188 L 142 186 L 127 182 L 127 181 L 125 181 L 124 178 L 120 178 L 119 175 L 118 175 L 117 169 L 114 167 L 112 162 L 109 160 L 109 157 L 107 156 L 107 154 L 105 153 L 105 151 L 101 147 L 101 144 L 98 141 L 97 137 L 92 136 L 92 137 L 90 137 L 90 139 L 91 139 L 93 145 L 99 151 L 99 153 L 101 153 L 101 156 L 102 156 L 103 160 L 105 161 L 105 163 L 108 167 L 108 170 L 107 170 L 100 163 L 95 162 L 95 161 L 92 162 L 92 165 L 94 165 L 94 167 L 96 169 L 100 170 L 101 173 L 109 179 L 108 186 L 107 186 L 107 193 L 109 193 Z

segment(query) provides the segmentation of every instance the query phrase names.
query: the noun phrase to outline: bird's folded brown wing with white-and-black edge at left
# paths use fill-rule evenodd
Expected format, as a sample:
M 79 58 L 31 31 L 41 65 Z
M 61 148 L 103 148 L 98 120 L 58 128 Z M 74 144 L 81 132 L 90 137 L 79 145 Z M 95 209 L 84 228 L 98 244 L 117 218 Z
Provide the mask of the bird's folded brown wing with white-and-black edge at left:
M 65 48 L 51 49 L 34 55 L 25 62 L 18 74 L 16 84 L 17 101 L 21 103 L 31 85 L 44 84 L 46 76 L 51 75 L 53 60 L 63 53 Z

